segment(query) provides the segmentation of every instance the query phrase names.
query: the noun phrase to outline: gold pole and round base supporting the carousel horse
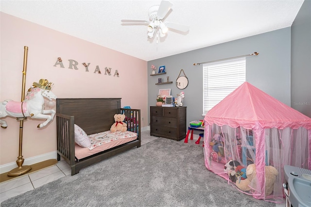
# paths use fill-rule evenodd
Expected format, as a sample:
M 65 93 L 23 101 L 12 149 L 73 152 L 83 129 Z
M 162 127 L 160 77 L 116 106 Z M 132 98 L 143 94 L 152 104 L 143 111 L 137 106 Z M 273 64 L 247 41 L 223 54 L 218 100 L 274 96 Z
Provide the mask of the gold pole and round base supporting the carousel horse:
M 22 89 L 21 89 L 21 102 L 23 102 L 25 99 L 27 54 L 28 54 L 28 47 L 24 46 L 24 64 L 23 64 L 23 82 L 22 82 Z M 16 160 L 16 164 L 18 167 L 8 172 L 8 176 L 10 177 L 21 175 L 31 170 L 31 166 L 29 165 L 22 166 L 24 162 L 24 158 L 23 158 L 23 155 L 21 155 L 22 142 L 23 142 L 23 125 L 24 125 L 24 120 L 26 120 L 27 117 L 18 117 L 16 119 L 17 121 L 19 121 L 19 150 L 18 150 L 18 157 Z

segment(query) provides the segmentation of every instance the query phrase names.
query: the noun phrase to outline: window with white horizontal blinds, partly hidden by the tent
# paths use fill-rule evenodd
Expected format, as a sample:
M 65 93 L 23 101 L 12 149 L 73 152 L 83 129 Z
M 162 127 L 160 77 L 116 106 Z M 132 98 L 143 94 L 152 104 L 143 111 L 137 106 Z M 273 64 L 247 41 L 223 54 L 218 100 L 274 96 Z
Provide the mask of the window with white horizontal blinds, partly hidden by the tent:
M 203 65 L 203 113 L 245 82 L 245 57 Z

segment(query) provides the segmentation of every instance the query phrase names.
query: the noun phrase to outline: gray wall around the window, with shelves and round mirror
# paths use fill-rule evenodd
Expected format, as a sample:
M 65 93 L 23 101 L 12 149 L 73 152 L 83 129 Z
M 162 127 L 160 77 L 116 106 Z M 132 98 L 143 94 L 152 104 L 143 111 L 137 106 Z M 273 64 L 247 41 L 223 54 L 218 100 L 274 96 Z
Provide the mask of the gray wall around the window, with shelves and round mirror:
M 291 105 L 291 28 L 288 27 L 148 61 L 148 107 L 155 105 L 159 89 L 171 88 L 171 95 L 174 97 L 181 91 L 185 92 L 184 106 L 187 106 L 187 123 L 203 119 L 203 66 L 193 66 L 193 63 L 253 52 L 259 52 L 259 55 L 246 57 L 246 81 L 284 104 Z M 167 74 L 150 76 L 152 64 L 157 69 L 165 65 Z M 184 90 L 178 89 L 175 85 L 180 69 L 184 69 L 189 79 L 189 85 Z M 166 76 L 170 76 L 173 84 L 155 85 L 160 77 L 166 81 Z M 148 123 L 150 123 L 150 114 L 148 114 Z

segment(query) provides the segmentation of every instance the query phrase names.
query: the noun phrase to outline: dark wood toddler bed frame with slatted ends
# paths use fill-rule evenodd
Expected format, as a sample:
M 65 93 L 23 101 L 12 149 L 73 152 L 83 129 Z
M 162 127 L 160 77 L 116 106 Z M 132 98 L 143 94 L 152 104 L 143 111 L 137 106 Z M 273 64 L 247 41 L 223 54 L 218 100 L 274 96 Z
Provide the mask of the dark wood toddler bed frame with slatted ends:
M 87 135 L 100 133 L 110 130 L 115 114 L 123 113 L 128 131 L 137 133 L 137 139 L 84 158 L 75 156 L 74 124 Z M 88 165 L 140 147 L 139 120 L 140 109 L 121 108 L 121 98 L 56 99 L 57 160 L 62 156 L 71 167 L 71 175 L 74 175 Z

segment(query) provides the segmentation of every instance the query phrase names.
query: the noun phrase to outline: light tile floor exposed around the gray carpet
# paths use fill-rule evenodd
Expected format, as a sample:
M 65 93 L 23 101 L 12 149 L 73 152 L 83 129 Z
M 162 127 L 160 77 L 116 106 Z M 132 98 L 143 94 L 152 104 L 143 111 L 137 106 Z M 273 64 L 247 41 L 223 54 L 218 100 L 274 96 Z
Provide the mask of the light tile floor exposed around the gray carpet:
M 150 131 L 141 132 L 141 145 L 157 139 L 158 137 L 150 136 Z M 188 140 L 188 144 L 195 144 L 196 138 Z M 184 142 L 184 139 L 180 140 Z M 185 143 L 186 144 L 186 143 Z M 200 146 L 203 146 L 203 139 L 200 141 Z M 71 174 L 69 164 L 61 159 L 56 165 L 30 173 L 21 175 L 12 180 L 0 183 L 0 203 L 8 198 L 17 196 L 29 190 L 34 190 L 44 184 L 57 180 Z M 277 204 L 276 207 L 285 207 L 285 204 Z

